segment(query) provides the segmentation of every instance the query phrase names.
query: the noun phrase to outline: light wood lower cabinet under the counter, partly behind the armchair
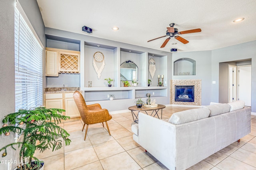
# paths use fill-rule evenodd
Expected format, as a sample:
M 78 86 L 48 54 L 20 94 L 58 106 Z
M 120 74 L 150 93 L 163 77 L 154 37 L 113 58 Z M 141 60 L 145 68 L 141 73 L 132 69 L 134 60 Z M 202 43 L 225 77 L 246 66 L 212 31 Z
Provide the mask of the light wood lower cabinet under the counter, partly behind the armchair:
M 73 98 L 73 93 L 45 94 L 45 107 L 66 110 L 63 115 L 70 118 L 80 117 L 80 113 Z

